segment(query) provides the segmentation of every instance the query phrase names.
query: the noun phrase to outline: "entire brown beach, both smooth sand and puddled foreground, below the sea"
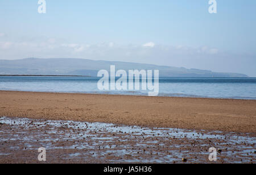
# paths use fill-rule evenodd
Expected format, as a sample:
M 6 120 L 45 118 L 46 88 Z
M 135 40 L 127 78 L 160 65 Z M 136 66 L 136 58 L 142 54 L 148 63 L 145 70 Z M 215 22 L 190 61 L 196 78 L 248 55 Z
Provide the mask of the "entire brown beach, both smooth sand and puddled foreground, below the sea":
M 256 161 L 256 101 L 21 91 L 0 97 L 0 163 Z M 217 161 L 209 161 L 212 147 L 221 150 Z

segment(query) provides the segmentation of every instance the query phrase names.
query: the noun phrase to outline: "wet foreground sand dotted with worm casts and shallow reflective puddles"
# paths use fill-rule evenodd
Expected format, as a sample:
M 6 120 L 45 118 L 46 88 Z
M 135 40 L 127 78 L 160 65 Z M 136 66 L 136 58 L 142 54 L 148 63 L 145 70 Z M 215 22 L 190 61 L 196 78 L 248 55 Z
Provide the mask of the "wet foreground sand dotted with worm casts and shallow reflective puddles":
M 0 123 L 0 162 L 36 162 L 44 147 L 47 163 L 210 163 L 215 147 L 222 150 L 217 163 L 255 163 L 256 139 L 247 134 L 7 117 Z

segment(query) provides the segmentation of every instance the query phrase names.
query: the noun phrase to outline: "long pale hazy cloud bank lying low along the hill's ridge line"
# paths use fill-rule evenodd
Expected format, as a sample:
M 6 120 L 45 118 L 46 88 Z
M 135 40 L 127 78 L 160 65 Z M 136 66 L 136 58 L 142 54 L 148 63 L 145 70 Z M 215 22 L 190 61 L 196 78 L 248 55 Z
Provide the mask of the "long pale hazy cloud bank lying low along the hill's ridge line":
M 153 42 L 141 45 L 119 45 L 113 42 L 64 43 L 63 40 L 53 38 L 16 42 L 0 41 L 0 59 L 27 57 L 139 62 L 207 69 L 215 72 L 239 72 L 250 76 L 254 71 L 251 67 L 255 65 L 255 56 L 232 55 L 209 46 L 193 48 L 185 45 L 156 45 Z M 250 70 L 251 72 L 248 72 Z

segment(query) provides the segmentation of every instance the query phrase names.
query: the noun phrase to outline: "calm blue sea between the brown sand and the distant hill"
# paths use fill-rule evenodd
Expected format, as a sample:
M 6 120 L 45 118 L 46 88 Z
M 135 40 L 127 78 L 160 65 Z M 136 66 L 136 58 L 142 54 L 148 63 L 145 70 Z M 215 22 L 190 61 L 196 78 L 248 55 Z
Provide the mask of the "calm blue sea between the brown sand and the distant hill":
M 0 76 L 0 90 L 147 95 L 147 91 L 101 91 L 98 77 Z M 159 78 L 159 96 L 256 99 L 256 78 Z

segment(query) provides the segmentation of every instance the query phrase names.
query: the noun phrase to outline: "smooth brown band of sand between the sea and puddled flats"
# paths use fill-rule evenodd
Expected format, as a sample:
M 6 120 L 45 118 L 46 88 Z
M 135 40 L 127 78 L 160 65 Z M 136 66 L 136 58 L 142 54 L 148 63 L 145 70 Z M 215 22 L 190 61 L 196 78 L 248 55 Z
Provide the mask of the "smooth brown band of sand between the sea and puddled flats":
M 0 91 L 0 116 L 247 132 L 256 101 Z

